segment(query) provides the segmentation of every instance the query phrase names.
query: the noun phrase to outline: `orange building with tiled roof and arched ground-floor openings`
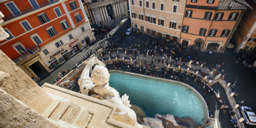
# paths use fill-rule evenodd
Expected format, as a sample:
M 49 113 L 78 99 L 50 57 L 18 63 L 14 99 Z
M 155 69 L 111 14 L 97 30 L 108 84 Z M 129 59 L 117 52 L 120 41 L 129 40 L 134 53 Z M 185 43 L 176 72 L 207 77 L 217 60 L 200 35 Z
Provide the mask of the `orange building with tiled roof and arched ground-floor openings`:
M 244 12 L 245 0 L 187 0 L 180 42 L 185 47 L 222 52 Z

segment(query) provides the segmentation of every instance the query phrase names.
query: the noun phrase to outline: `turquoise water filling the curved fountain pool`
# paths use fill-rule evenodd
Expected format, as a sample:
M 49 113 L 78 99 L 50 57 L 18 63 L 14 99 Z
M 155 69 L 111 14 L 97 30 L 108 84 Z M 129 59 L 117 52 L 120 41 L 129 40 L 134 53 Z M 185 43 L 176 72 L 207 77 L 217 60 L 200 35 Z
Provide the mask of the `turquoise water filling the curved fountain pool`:
M 120 96 L 126 93 L 130 103 L 143 108 L 149 117 L 157 113 L 188 116 L 200 124 L 207 118 L 204 101 L 184 84 L 124 72 L 109 73 L 109 85 Z

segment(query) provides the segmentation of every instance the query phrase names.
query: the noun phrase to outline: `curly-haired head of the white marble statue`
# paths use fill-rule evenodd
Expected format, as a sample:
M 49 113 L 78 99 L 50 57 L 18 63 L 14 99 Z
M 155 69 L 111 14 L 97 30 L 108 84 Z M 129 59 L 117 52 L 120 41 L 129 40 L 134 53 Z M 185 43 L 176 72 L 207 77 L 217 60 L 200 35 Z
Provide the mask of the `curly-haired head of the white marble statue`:
M 96 65 L 92 70 L 92 82 L 97 85 L 104 85 L 108 83 L 110 74 L 108 69 L 104 66 Z

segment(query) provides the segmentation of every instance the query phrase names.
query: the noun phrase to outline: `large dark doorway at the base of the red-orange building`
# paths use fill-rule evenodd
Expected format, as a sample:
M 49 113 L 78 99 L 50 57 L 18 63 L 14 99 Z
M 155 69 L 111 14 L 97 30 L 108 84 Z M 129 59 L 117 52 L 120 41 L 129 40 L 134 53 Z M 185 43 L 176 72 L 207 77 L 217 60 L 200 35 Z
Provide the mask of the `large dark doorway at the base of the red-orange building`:
M 44 66 L 39 61 L 36 61 L 36 63 L 30 65 L 29 68 L 33 72 L 35 72 L 39 78 L 42 78 L 44 75 L 46 75 L 48 73 L 47 70 L 44 68 Z

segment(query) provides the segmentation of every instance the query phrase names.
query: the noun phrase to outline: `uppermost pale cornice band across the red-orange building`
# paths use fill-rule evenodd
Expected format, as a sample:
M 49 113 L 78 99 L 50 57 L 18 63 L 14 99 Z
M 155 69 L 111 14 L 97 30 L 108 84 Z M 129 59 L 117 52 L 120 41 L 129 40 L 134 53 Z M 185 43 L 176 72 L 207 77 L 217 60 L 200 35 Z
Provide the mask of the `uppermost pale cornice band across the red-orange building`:
M 61 3 L 65 2 L 65 1 L 67 1 L 67 0 L 60 0 L 60 1 L 56 2 L 56 3 L 53 3 L 53 4 L 49 4 L 49 5 L 47 5 L 47 6 L 44 6 L 43 8 L 39 8 L 39 9 L 36 9 L 36 10 L 34 10 L 34 11 L 32 11 L 32 12 L 28 12 L 28 13 L 23 14 L 23 15 L 21 15 L 21 16 L 15 17 L 15 18 L 13 18 L 13 19 L 11 19 L 11 20 L 7 20 L 7 21 L 5 21 L 4 23 L 2 23 L 2 25 L 6 25 L 6 24 L 12 23 L 12 22 L 14 22 L 14 21 L 16 21 L 16 20 L 20 20 L 20 19 L 22 19 L 22 18 L 24 18 L 24 17 L 27 17 L 27 16 L 29 16 L 29 15 L 32 15 L 32 14 L 34 14 L 34 13 L 36 13 L 36 12 L 40 12 L 40 11 L 42 11 L 42 10 L 44 10 L 44 9 L 48 9 L 49 7 L 55 6 L 55 5 L 57 5 L 57 4 L 61 4 Z

